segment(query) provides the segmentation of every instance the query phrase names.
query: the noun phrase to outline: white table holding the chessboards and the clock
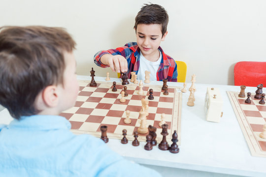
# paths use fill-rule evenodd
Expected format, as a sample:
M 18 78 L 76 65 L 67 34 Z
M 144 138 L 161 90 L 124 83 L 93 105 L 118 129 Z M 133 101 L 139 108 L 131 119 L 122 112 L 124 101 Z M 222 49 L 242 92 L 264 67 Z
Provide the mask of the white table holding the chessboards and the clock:
M 89 76 L 78 76 L 80 80 L 90 80 Z M 95 77 L 104 81 L 103 77 Z M 197 78 L 196 78 L 197 79 Z M 121 82 L 111 78 L 110 82 Z M 162 85 L 163 82 L 150 84 Z M 169 86 L 183 87 L 183 83 L 170 83 Z M 191 86 L 190 81 L 187 89 Z M 206 85 L 195 83 L 195 106 L 187 106 L 189 91 L 183 93 L 181 116 L 181 146 L 177 154 L 162 151 L 158 146 L 151 151 L 144 149 L 144 142 L 133 147 L 120 140 L 109 139 L 107 145 L 125 158 L 158 170 L 168 177 L 222 177 L 223 174 L 266 177 L 266 158 L 251 156 L 237 118 L 233 112 L 226 91 L 240 91 L 237 86 Z M 207 87 L 219 88 L 224 101 L 223 117 L 220 123 L 205 120 L 204 99 Z M 257 88 L 247 87 L 245 91 L 255 92 Z M 10 115 L 0 112 L 0 123 L 8 123 Z M 160 133 L 160 132 L 157 132 Z M 171 142 L 168 142 L 171 144 Z

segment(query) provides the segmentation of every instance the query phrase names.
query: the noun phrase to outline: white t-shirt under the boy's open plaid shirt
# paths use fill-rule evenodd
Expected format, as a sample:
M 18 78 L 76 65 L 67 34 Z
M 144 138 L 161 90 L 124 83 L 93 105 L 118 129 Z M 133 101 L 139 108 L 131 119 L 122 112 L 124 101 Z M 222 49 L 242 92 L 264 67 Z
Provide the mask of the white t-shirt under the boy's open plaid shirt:
M 159 51 L 159 50 L 158 50 Z M 139 69 L 137 72 L 137 79 L 138 80 L 145 80 L 145 71 L 150 71 L 150 81 L 157 81 L 156 73 L 158 71 L 158 68 L 160 66 L 161 60 L 162 60 L 162 54 L 161 51 L 159 59 L 157 61 L 149 61 L 145 59 L 145 57 L 142 55 L 140 51 L 140 58 L 139 58 Z

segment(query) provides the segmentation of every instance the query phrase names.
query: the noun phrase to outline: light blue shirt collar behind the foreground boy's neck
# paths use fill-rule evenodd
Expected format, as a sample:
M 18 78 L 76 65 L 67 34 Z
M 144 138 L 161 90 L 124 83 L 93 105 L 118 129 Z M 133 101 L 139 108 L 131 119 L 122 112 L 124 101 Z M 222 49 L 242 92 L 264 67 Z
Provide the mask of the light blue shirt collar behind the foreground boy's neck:
M 70 129 L 70 122 L 62 116 L 34 115 L 23 116 L 20 120 L 14 119 L 7 128 L 27 128 L 32 130 Z

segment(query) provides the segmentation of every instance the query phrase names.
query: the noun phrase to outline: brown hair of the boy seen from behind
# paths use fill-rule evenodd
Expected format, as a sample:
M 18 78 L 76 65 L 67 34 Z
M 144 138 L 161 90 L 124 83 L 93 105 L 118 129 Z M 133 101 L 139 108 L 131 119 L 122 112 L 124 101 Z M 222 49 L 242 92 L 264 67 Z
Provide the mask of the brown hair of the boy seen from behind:
M 62 28 L 0 28 L 0 104 L 13 118 L 37 114 L 37 94 L 63 84 L 64 52 L 72 52 L 75 44 Z

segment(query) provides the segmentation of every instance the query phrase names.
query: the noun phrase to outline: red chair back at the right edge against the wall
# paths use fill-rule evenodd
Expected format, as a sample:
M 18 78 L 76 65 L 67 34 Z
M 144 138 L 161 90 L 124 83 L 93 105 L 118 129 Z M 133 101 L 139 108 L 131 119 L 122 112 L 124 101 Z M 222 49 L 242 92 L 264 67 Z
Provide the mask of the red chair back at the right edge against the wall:
M 257 87 L 263 84 L 266 87 L 266 62 L 240 61 L 234 65 L 234 85 Z

